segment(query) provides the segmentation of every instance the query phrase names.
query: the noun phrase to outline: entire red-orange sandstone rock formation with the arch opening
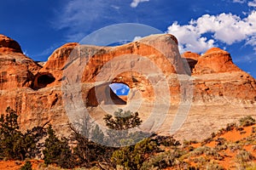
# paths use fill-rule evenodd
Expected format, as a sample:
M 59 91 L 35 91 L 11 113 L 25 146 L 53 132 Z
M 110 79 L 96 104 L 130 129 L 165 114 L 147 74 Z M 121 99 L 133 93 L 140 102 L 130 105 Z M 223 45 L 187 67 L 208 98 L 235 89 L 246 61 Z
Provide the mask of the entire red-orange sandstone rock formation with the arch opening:
M 127 105 L 109 88 L 112 82 L 131 88 Z M 67 134 L 68 110 L 75 112 L 85 106 L 101 123 L 106 114 L 103 106 L 113 104 L 119 105 L 114 109 L 139 111 L 147 120 L 154 106 L 159 105 L 160 113 L 168 108 L 166 122 L 160 128 L 161 133 L 168 134 L 178 106 L 189 101 L 192 107 L 188 120 L 177 136 L 202 138 L 194 124 L 202 117 L 201 127 L 211 122 L 212 128 L 201 133 L 210 134 L 218 125 L 224 126 L 246 113 L 255 115 L 256 82 L 220 48 L 181 56 L 177 39 L 168 34 L 118 47 L 67 43 L 56 49 L 43 66 L 22 54 L 18 42 L 0 36 L 0 113 L 7 106 L 14 108 L 22 129 L 50 121 L 58 132 Z M 216 105 L 225 112 L 214 113 Z

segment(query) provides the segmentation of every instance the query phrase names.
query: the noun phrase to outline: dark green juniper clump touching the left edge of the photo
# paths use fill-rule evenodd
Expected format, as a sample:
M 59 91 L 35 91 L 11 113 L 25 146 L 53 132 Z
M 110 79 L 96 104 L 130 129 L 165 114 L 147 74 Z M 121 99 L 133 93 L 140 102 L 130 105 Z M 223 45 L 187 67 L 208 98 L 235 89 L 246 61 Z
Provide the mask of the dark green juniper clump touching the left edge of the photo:
M 0 159 L 24 160 L 38 156 L 40 151 L 37 144 L 45 135 L 44 126 L 21 133 L 16 112 L 9 107 L 6 112 L 6 116 L 0 117 Z

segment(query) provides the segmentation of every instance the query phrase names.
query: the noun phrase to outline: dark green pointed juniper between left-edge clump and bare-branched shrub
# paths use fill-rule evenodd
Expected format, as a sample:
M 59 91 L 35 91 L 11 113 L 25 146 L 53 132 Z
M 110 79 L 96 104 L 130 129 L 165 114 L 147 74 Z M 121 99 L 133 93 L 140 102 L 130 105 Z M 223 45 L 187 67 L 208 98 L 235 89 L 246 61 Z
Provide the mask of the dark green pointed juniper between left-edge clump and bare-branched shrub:
M 64 168 L 73 167 L 72 151 L 68 146 L 67 139 L 58 139 L 51 126 L 47 129 L 48 138 L 44 144 L 44 162 L 46 165 L 55 163 Z

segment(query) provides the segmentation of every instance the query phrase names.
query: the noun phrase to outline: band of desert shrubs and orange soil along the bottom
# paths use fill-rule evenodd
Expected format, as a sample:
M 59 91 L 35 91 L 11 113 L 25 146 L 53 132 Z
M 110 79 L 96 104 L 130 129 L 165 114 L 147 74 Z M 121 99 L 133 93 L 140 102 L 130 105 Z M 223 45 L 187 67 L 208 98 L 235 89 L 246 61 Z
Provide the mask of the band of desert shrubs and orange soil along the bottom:
M 0 117 L 0 159 L 25 160 L 44 155 L 42 169 L 227 169 L 222 162 L 230 154 L 238 169 L 253 169 L 255 165 L 256 133 L 252 126 L 253 117 L 240 119 L 240 125 L 230 123 L 218 133 L 202 142 L 184 140 L 183 144 L 172 136 L 160 136 L 156 133 L 129 132 L 130 128 L 139 127 L 142 123 L 138 113 L 119 110 L 114 116 L 106 115 L 109 131 L 102 132 L 101 127 L 84 117 L 79 128 L 70 126 L 72 137 L 59 139 L 53 127 L 33 127 L 25 133 L 19 130 L 18 116 L 15 111 L 7 109 L 7 114 Z M 80 130 L 78 130 L 80 129 Z M 113 133 L 115 131 L 117 133 Z M 121 133 L 119 133 L 121 131 Z M 239 135 L 241 139 L 231 141 L 225 133 Z M 146 137 L 146 138 L 145 138 Z M 42 142 L 40 139 L 45 139 Z M 115 140 L 116 143 L 111 143 Z M 40 142 L 41 141 L 41 142 Z M 113 148 L 105 146 L 106 142 L 121 144 Z M 249 147 L 248 147 L 249 146 Z M 248 149 L 250 148 L 250 149 Z M 252 151 L 253 150 L 253 151 Z M 53 167 L 57 166 L 57 167 Z M 21 163 L 20 163 L 21 166 Z M 39 167 L 39 169 L 41 168 Z M 233 168 L 232 167 L 232 168 Z M 31 161 L 20 169 L 32 169 Z

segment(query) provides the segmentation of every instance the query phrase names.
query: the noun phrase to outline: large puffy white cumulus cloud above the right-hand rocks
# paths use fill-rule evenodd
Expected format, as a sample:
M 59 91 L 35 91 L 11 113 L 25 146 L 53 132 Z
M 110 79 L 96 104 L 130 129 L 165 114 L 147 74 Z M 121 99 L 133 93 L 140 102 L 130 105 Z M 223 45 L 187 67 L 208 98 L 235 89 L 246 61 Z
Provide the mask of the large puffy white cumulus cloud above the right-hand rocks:
M 235 14 L 205 14 L 197 20 L 190 20 L 188 25 L 181 26 L 174 22 L 167 32 L 177 37 L 182 52 L 201 53 L 218 42 L 231 45 L 245 40 L 255 47 L 255 27 L 256 11 L 253 11 L 243 19 Z M 208 36 L 204 36 L 206 34 Z

